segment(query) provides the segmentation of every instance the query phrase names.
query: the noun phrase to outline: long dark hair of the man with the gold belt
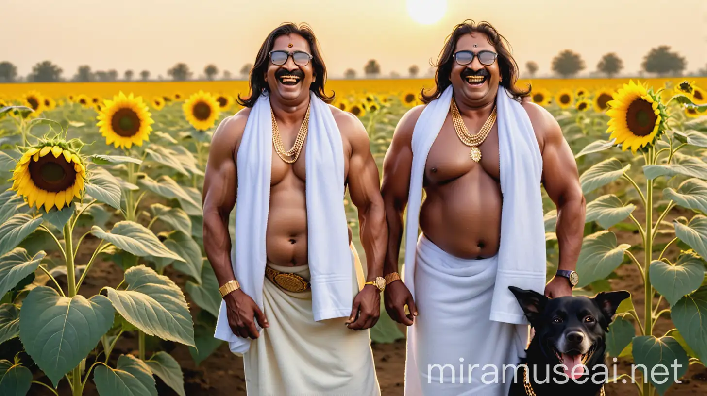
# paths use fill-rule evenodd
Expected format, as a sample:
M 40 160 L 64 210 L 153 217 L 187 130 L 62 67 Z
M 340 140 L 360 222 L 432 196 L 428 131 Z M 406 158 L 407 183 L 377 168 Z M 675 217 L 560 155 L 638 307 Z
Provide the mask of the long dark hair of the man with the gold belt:
M 314 69 L 314 74 L 317 76 L 312 85 L 310 86 L 310 91 L 314 91 L 320 99 L 324 100 L 325 103 L 331 103 L 334 99 L 334 93 L 332 91 L 331 96 L 327 96 L 324 91 L 324 85 L 327 82 L 327 67 L 324 65 L 324 59 L 322 59 L 321 50 L 319 43 L 317 42 L 317 37 L 315 37 L 312 32 L 312 28 L 306 23 L 300 23 L 300 25 L 295 25 L 294 23 L 283 23 L 279 25 L 275 30 L 271 31 L 267 36 L 263 44 L 260 46 L 257 57 L 255 58 L 255 64 L 252 69 L 250 69 L 250 76 L 248 85 L 250 86 L 250 95 L 247 98 L 241 98 L 238 94 L 238 104 L 245 107 L 253 107 L 255 102 L 257 102 L 263 91 L 269 92 L 269 87 L 265 82 L 264 74 L 267 71 L 269 57 L 267 56 L 272 50 L 275 43 L 275 39 L 281 35 L 291 35 L 296 34 L 304 37 L 305 40 L 310 45 L 312 50 L 312 68 Z

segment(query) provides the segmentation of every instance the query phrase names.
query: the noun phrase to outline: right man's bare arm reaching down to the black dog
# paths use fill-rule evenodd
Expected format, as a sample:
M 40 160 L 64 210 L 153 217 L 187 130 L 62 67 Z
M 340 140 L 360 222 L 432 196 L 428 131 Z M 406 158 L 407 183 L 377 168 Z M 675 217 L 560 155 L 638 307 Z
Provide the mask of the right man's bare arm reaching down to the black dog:
M 557 207 L 558 269 L 573 271 L 582 249 L 586 210 L 577 163 L 554 117 L 534 103 L 523 103 L 523 107 L 543 142 L 542 183 Z M 549 297 L 571 296 L 568 279 L 552 279 L 546 286 L 545 294 Z

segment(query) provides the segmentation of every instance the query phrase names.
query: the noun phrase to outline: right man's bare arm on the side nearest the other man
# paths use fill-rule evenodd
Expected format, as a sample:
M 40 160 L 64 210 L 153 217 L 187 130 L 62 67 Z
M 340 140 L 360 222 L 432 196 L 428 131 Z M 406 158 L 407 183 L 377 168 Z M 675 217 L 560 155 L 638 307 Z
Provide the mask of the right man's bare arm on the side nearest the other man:
M 398 122 L 393 133 L 390 147 L 383 161 L 383 180 L 381 192 L 385 204 L 385 219 L 388 224 L 387 252 L 385 255 L 384 274 L 398 272 L 400 243 L 402 242 L 402 214 L 407 206 L 412 170 L 412 132 L 423 106 L 409 110 Z M 414 249 L 414 246 L 407 246 Z M 412 325 L 417 314 L 410 291 L 402 281 L 392 281 L 386 286 L 385 310 L 392 320 Z M 409 314 L 405 314 L 405 305 Z

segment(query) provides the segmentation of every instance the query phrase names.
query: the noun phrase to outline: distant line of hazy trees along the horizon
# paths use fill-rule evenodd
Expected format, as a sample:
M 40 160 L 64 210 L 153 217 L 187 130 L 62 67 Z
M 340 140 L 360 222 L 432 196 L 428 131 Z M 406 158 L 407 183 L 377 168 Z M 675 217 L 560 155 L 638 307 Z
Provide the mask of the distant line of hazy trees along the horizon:
M 641 62 L 641 75 L 643 73 L 653 74 L 655 76 L 683 76 L 685 75 L 686 69 L 686 59 L 682 57 L 677 52 L 671 50 L 670 46 L 660 45 L 651 49 L 648 54 L 643 57 L 643 62 Z M 244 64 L 239 71 L 240 78 L 247 78 L 252 69 L 252 64 Z M 581 55 L 572 50 L 563 50 L 552 59 L 551 71 L 556 75 L 563 78 L 571 78 L 576 76 L 580 71 L 584 71 L 587 68 L 584 59 Z M 530 77 L 534 77 L 538 71 L 538 65 L 536 62 L 530 61 L 525 64 L 525 71 Z M 607 76 L 614 77 L 618 76 L 624 69 L 624 63 L 619 58 L 619 56 L 610 52 L 604 54 L 600 61 L 596 65 L 596 71 L 592 72 L 590 75 L 594 76 Z M 32 68 L 32 72 L 26 77 L 18 76 L 17 67 L 11 62 L 0 62 L 0 83 L 12 83 L 12 82 L 54 82 L 54 81 L 78 81 L 78 82 L 90 82 L 90 81 L 133 81 L 134 71 L 125 70 L 121 74 L 115 69 L 110 70 L 96 70 L 93 71 L 88 65 L 78 66 L 74 76 L 70 78 L 64 78 L 62 68 L 53 64 L 50 61 L 43 61 L 35 64 Z M 203 74 L 197 76 L 199 80 L 215 80 L 219 78 L 220 70 L 214 64 L 208 64 L 204 67 Z M 417 65 L 412 65 L 407 70 L 408 75 L 411 78 L 419 76 L 420 69 Z M 433 69 L 427 71 L 427 75 L 431 75 Z M 688 73 L 691 76 L 707 76 L 707 65 L 702 69 Z M 150 71 L 143 70 L 139 73 L 139 79 L 141 81 L 148 81 L 150 79 Z M 189 66 L 185 63 L 177 63 L 167 70 L 167 76 L 169 76 L 173 81 L 187 81 L 194 78 L 194 72 L 189 69 Z M 378 78 L 381 76 L 380 64 L 375 59 L 370 59 L 366 64 L 363 65 L 363 76 L 366 78 Z M 397 78 L 400 74 L 397 71 L 391 71 L 390 77 Z M 222 79 L 233 78 L 232 74 L 228 70 L 221 72 Z M 356 78 L 355 69 L 346 69 L 344 71 L 344 78 Z M 163 76 L 158 76 L 158 80 L 163 80 Z

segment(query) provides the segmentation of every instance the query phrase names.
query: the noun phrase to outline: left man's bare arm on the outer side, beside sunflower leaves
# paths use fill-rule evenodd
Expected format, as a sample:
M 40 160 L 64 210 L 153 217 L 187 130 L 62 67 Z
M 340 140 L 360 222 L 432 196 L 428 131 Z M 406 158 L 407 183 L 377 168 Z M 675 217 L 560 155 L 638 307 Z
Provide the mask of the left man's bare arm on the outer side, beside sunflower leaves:
M 235 147 L 243 134 L 246 120 L 247 112 L 241 112 L 218 125 L 211 139 L 204 175 L 204 250 L 219 286 L 235 279 L 230 260 L 228 218 L 235 205 L 238 188 Z M 233 334 L 243 338 L 257 338 L 259 332 L 254 318 L 257 318 L 261 327 L 267 327 L 265 315 L 242 290 L 232 291 L 223 299 L 226 301 L 228 324 Z

